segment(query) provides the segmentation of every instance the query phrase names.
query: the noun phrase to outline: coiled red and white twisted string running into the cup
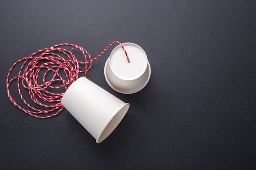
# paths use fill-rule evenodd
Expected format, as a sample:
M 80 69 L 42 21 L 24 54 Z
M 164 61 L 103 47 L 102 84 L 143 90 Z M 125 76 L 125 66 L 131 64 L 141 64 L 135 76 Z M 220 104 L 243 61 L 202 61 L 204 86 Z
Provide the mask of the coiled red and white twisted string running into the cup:
M 127 57 L 127 62 L 130 62 L 124 46 L 119 41 L 111 42 L 94 59 L 92 59 L 90 54 L 81 46 L 69 43 L 56 44 L 50 48 L 38 50 L 28 57 L 21 58 L 11 66 L 7 74 L 6 87 L 7 95 L 10 101 L 20 110 L 33 117 L 45 119 L 57 115 L 64 107 L 61 105 L 61 98 L 63 97 L 67 88 L 76 79 L 78 79 L 79 73 L 84 73 L 84 76 L 86 76 L 87 71 L 90 70 L 92 66 L 92 62 L 100 57 L 114 43 L 118 43 L 121 46 Z M 61 48 L 61 46 L 71 46 L 72 49 L 69 51 Z M 83 54 L 83 62 L 77 60 L 76 56 L 74 55 L 75 49 L 79 49 L 79 51 L 81 51 Z M 87 57 L 89 60 L 87 60 Z M 10 74 L 18 63 L 22 63 L 18 71 L 18 75 L 10 79 Z M 80 69 L 81 65 L 84 66 L 83 69 Z M 43 80 L 39 80 L 39 74 L 41 75 L 43 71 L 45 71 L 42 76 Z M 62 74 L 64 76 L 61 76 L 61 72 L 64 73 Z M 53 74 L 52 78 L 50 80 L 46 80 L 46 75 L 49 77 L 51 73 Z M 30 108 L 29 110 L 17 104 L 11 96 L 9 87 L 14 80 L 17 80 L 18 93 L 22 102 L 27 105 L 28 108 Z M 39 83 L 40 81 L 42 83 Z M 58 86 L 54 84 L 58 84 Z M 21 93 L 21 85 L 27 89 L 31 100 L 37 104 L 36 106 L 42 106 L 44 108 L 43 110 L 31 106 L 31 104 L 24 99 Z M 53 89 L 57 88 L 62 89 L 63 92 L 57 93 L 57 90 L 55 92 L 52 91 Z M 47 116 L 42 116 L 42 114 L 47 114 Z

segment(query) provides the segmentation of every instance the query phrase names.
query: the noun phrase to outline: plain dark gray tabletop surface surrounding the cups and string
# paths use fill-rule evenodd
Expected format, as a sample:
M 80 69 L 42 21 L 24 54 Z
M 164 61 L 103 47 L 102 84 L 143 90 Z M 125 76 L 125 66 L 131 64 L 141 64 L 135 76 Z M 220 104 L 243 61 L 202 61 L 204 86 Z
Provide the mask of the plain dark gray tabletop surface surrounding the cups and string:
M 63 110 L 37 119 L 8 99 L 6 77 L 18 59 L 58 43 L 97 56 L 110 42 L 133 42 L 152 74 L 101 144 Z M 255 169 L 255 0 L 1 0 L 0 169 Z M 18 99 L 18 92 L 12 93 Z

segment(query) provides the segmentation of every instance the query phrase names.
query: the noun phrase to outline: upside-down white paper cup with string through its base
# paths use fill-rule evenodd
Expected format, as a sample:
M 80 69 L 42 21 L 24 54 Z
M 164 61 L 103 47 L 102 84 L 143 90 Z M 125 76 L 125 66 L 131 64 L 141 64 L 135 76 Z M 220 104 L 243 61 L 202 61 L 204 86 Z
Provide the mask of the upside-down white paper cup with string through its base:
M 121 46 L 115 47 L 104 67 L 108 85 L 119 93 L 131 94 L 140 91 L 150 79 L 151 68 L 145 51 L 137 44 L 122 44 L 130 63 Z

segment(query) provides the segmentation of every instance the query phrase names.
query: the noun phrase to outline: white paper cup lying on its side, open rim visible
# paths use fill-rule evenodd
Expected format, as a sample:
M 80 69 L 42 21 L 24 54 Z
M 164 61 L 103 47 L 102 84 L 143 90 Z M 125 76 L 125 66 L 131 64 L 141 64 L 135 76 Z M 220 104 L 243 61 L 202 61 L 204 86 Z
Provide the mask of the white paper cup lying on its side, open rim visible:
M 67 89 L 61 104 L 97 143 L 110 135 L 130 106 L 85 77 L 80 77 Z

